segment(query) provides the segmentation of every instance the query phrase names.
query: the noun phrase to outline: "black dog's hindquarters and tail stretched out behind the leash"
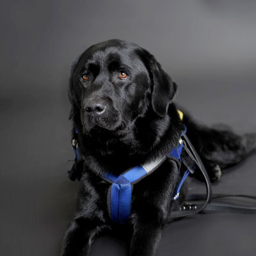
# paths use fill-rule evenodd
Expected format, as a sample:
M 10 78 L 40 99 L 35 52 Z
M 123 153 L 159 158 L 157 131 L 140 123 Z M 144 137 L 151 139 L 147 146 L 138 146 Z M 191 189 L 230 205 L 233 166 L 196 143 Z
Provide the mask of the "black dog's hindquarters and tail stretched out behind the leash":
M 227 125 L 206 127 L 184 115 L 188 137 L 205 165 L 221 169 L 237 164 L 256 152 L 256 133 L 238 135 Z

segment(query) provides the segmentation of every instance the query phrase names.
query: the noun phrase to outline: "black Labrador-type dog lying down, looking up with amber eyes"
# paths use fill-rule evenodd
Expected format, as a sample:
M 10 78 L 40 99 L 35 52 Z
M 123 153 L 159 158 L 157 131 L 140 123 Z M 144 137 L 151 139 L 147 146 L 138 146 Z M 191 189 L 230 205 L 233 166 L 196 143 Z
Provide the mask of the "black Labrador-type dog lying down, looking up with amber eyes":
M 61 255 L 89 255 L 93 239 L 118 226 L 109 217 L 104 173 L 120 175 L 132 166 L 168 156 L 179 143 L 183 124 L 212 181 L 255 149 L 255 134 L 238 136 L 204 127 L 187 113 L 180 120 L 172 102 L 176 92 L 177 84 L 154 56 L 136 44 L 109 40 L 92 45 L 77 60 L 70 77 L 70 118 L 83 156 L 83 175 Z M 134 185 L 125 224 L 131 231 L 130 255 L 155 255 L 163 227 L 170 221 L 183 167 L 167 157 Z

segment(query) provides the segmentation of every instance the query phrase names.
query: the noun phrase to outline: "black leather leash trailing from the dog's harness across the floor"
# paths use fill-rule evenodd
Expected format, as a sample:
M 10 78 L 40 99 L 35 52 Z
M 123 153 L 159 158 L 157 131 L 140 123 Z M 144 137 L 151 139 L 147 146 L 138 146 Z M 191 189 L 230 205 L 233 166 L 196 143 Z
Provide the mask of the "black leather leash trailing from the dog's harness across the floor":
M 207 171 L 205 170 L 204 164 L 202 163 L 200 157 L 198 156 L 195 148 L 189 141 L 188 136 L 184 132 L 182 132 L 182 136 L 184 138 L 184 150 L 186 150 L 189 157 L 193 160 L 193 162 L 198 166 L 200 172 L 204 176 L 205 187 L 206 187 L 206 196 L 202 194 L 193 194 L 186 197 L 186 202 L 184 205 L 177 205 L 170 212 L 170 221 L 183 218 L 192 214 L 196 214 L 198 212 L 203 211 L 221 211 L 221 212 L 232 212 L 232 213 L 243 213 L 243 214 L 256 214 L 256 207 L 245 207 L 245 206 L 237 206 L 232 204 L 216 204 L 211 202 L 211 199 L 219 199 L 219 198 L 249 198 L 256 200 L 256 196 L 251 195 L 228 195 L 228 194 L 216 194 L 212 196 L 211 182 L 208 176 Z M 183 163 L 187 166 L 186 162 Z M 190 166 L 187 166 L 189 170 L 191 170 Z M 203 203 L 201 201 L 204 201 Z

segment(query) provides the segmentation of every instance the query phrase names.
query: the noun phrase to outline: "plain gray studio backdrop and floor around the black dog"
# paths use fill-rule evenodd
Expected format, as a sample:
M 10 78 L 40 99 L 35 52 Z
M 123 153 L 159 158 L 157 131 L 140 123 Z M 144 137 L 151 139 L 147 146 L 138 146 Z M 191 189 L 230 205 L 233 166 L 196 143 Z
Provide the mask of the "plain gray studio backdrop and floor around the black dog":
M 72 61 L 120 38 L 152 52 L 179 84 L 176 101 L 205 124 L 256 131 L 256 2 L 1 1 L 1 255 L 58 255 L 77 183 L 67 99 Z M 251 156 L 214 192 L 256 194 Z M 202 186 L 193 182 L 191 188 Z M 253 255 L 256 216 L 200 214 L 168 225 L 160 255 Z M 125 255 L 101 237 L 92 255 Z

